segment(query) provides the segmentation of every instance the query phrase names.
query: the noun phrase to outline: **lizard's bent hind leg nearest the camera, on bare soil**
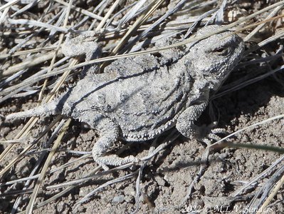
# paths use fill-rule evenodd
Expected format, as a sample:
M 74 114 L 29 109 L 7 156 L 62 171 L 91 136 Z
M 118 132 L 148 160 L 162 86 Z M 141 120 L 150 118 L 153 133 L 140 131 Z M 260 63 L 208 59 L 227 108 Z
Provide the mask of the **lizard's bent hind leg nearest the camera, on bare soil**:
M 92 114 L 93 113 L 95 112 L 92 111 Z M 85 115 L 87 114 L 85 113 Z M 89 126 L 99 131 L 100 138 L 98 138 L 98 141 L 95 142 L 92 154 L 94 161 L 98 163 L 98 165 L 102 166 L 104 170 L 108 170 L 107 165 L 118 166 L 137 161 L 137 158 L 134 156 L 120 158 L 115 154 L 105 155 L 107 150 L 111 148 L 115 142 L 117 142 L 120 136 L 119 126 L 110 118 L 95 113 L 95 115 L 90 116 L 90 114 L 88 114 L 88 116 L 84 116 L 80 119 L 82 122 L 88 123 Z

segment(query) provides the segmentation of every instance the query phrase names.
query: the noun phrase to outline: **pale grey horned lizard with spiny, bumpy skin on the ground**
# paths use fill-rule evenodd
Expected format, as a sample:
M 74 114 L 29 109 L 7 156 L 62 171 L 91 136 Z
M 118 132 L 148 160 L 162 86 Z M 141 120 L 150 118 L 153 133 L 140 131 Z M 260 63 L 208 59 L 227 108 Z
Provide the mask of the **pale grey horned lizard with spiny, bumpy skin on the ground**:
M 206 26 L 196 35 L 218 28 Z M 69 44 L 67 47 L 71 55 L 82 54 L 79 49 L 70 51 Z M 93 43 L 91 49 L 97 54 L 86 54 L 88 58 L 98 57 L 97 44 Z M 243 50 L 241 38 L 224 32 L 161 51 L 159 56 L 118 59 L 104 73 L 94 74 L 97 66 L 91 66 L 63 95 L 43 106 L 12 113 L 6 119 L 55 114 L 72 117 L 99 131 L 92 153 L 103 168 L 137 161 L 134 156 L 120 158 L 105 153 L 118 139 L 146 141 L 174 126 L 187 138 L 198 136 L 194 122 L 206 108 L 210 91 L 219 88 Z

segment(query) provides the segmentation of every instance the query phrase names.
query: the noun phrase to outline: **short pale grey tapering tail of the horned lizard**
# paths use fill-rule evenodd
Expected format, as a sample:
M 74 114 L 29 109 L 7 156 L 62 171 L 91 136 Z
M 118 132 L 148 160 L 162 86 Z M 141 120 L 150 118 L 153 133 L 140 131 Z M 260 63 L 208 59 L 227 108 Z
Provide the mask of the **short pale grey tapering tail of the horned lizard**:
M 31 108 L 27 111 L 21 111 L 17 113 L 11 113 L 6 116 L 6 120 L 12 120 L 16 118 L 28 118 L 32 116 L 50 116 L 60 113 L 60 109 L 58 109 L 57 103 L 51 101 L 51 103 L 43 104 L 42 106 L 38 106 L 36 108 Z

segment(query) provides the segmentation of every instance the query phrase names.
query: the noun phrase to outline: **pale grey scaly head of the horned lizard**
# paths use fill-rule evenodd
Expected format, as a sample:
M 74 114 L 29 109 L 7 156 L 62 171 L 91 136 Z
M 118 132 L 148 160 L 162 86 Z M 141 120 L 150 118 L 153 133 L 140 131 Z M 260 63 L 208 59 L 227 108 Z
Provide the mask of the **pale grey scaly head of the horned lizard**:
M 221 26 L 211 25 L 196 32 L 196 36 L 204 36 Z M 194 71 L 196 79 L 206 81 L 206 85 L 217 90 L 224 79 L 240 60 L 244 51 L 243 40 L 231 32 L 215 34 L 195 44 L 189 49 L 190 71 Z

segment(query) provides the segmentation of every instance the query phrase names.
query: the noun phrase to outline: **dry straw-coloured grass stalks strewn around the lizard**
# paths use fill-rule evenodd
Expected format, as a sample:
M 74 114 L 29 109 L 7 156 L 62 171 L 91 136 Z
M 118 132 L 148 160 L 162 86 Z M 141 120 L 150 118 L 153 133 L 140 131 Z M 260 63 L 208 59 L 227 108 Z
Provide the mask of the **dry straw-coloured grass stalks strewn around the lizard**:
M 78 79 L 78 73 L 83 66 L 101 63 L 103 68 L 108 62 L 117 58 L 157 53 L 174 46 L 204 39 L 228 29 L 238 32 L 248 44 L 246 56 L 240 63 L 240 68 L 269 63 L 271 69 L 265 73 L 248 73 L 241 78 L 233 79 L 226 86 L 223 86 L 219 93 L 212 97 L 212 100 L 241 90 L 241 88 L 261 81 L 268 76 L 273 76 L 277 72 L 283 72 L 283 46 L 280 44 L 283 44 L 284 37 L 284 1 L 271 1 L 269 4 L 262 1 L 259 1 L 260 4 L 250 4 L 249 1 L 245 1 L 246 3 L 241 5 L 238 5 L 236 1 L 223 1 L 222 4 L 219 4 L 220 1 L 192 2 L 172 1 L 172 6 L 168 6 L 169 1 L 152 1 L 149 3 L 148 1 L 120 0 L 90 1 L 90 5 L 85 1 L 78 1 L 78 3 L 75 1 L 33 1 L 30 4 L 10 1 L 7 4 L 0 4 L 0 102 L 3 106 L 0 115 L 6 116 L 14 111 L 11 110 L 11 106 L 16 106 L 16 111 L 19 111 L 19 108 L 21 110 L 25 102 L 31 100 L 38 105 L 51 101 L 59 91 L 64 90 L 67 83 L 73 83 Z M 245 4 L 250 4 L 250 6 Z M 253 6 L 260 6 L 261 8 L 256 9 Z M 195 29 L 206 23 L 214 22 L 223 23 L 223 29 L 194 40 L 185 37 L 178 44 L 161 49 L 152 48 L 159 39 L 189 36 Z M 77 33 L 93 31 L 95 34 L 94 41 L 99 42 L 102 46 L 102 57 L 86 62 L 82 62 L 81 58 L 64 57 L 61 53 L 61 44 L 65 39 L 65 34 L 69 31 Z M 267 54 L 261 54 L 263 52 Z M 276 78 L 277 76 L 275 76 L 275 81 L 283 84 L 283 81 Z M 283 119 L 283 115 L 268 120 L 274 119 Z M 260 121 L 256 125 L 261 126 L 264 122 L 268 121 Z M 15 123 L 14 126 L 17 126 L 17 124 L 19 125 L 19 123 Z M 149 161 L 157 153 L 164 151 L 164 148 L 177 138 L 177 133 L 172 133 L 164 143 L 159 143 L 159 146 L 156 146 L 156 139 L 148 156 L 142 158 L 140 167 L 130 173 L 125 169 L 129 169 L 135 163 L 107 171 L 102 171 L 99 167 L 94 168 L 90 173 L 82 173 L 80 179 L 68 180 L 65 183 L 54 185 L 45 180 L 46 175 L 51 175 L 56 171 L 63 170 L 63 168 L 69 168 L 70 171 L 73 170 L 76 173 L 78 161 L 85 160 L 87 163 L 90 161 L 90 154 L 87 153 L 80 158 L 70 160 L 60 167 L 54 165 L 51 168 L 52 158 L 68 130 L 70 119 L 65 121 L 58 116 L 48 127 L 41 128 L 35 138 L 31 138 L 31 133 L 34 133 L 36 124 L 38 124 L 38 118 L 31 118 L 21 127 L 21 130 L 17 131 L 14 139 L 6 139 L 7 133 L 1 136 L 0 143 L 4 145 L 5 149 L 0 156 L 1 188 L 3 190 L 0 197 L 1 200 L 11 200 L 12 197 L 14 203 L 12 209 L 6 207 L 3 213 L 17 213 L 16 210 L 18 209 L 23 210 L 19 213 L 32 213 L 33 210 L 51 203 L 53 200 L 58 200 L 74 188 L 78 188 L 78 185 L 83 185 L 95 179 L 106 179 L 107 181 L 76 201 L 74 209 L 78 208 L 81 203 L 90 200 L 98 191 L 104 190 L 106 186 L 113 186 L 113 184 L 125 182 L 125 180 L 132 180 L 133 182 L 136 179 L 137 193 L 134 212 L 137 212 L 140 208 L 140 195 L 143 195 L 140 192 L 142 170 L 146 165 L 149 165 Z M 5 123 L 2 121 L 0 127 L 4 128 L 4 126 Z M 9 126 L 12 126 L 12 130 L 14 129 L 13 124 Z M 248 126 L 248 128 L 255 127 Z M 245 129 L 243 128 L 238 132 Z M 235 134 L 233 133 L 231 136 Z M 56 140 L 54 140 L 55 138 Z M 41 145 L 42 142 L 46 141 L 48 143 Z M 216 144 L 220 145 L 220 142 Z M 216 144 L 212 146 L 216 146 Z M 226 146 L 228 145 L 226 144 Z M 52 148 L 51 151 L 48 148 Z M 66 152 L 71 151 L 67 149 Z M 283 150 L 280 152 L 283 153 Z M 46 156 L 48 156 L 47 159 Z M 203 161 L 208 160 L 208 156 L 209 148 L 204 153 Z M 14 170 L 12 169 L 17 163 L 23 160 L 27 161 L 25 157 L 36 157 L 36 163 L 28 172 L 28 175 L 14 180 L 12 176 Z M 270 168 L 269 173 L 263 173 L 252 180 L 252 182 L 257 182 L 264 176 L 270 175 L 267 185 L 263 186 L 263 189 L 255 195 L 255 198 L 262 195 L 261 202 L 254 203 L 253 198 L 251 203 L 248 204 L 250 208 L 263 209 L 273 200 L 273 195 L 283 185 L 284 166 L 281 165 L 283 163 L 281 161 L 283 161 L 283 156 L 278 159 L 277 164 L 273 165 L 274 170 Z M 275 170 L 275 168 L 278 170 Z M 191 188 L 201 178 L 204 170 L 206 170 L 206 166 L 202 165 L 180 206 L 192 196 Z M 115 177 L 117 175 L 115 172 L 119 171 L 124 172 L 125 175 Z M 281 176 L 282 178 L 280 178 Z M 16 190 L 11 188 L 10 191 L 9 187 L 16 185 L 16 183 L 21 183 L 21 188 L 16 188 Z M 275 190 L 271 191 L 273 188 Z M 55 191 L 50 198 L 46 198 L 41 203 L 36 203 L 38 192 L 58 189 L 60 191 Z M 244 192 L 245 187 L 234 196 L 241 195 Z M 269 194 L 271 196 L 268 196 Z M 28 200 L 28 203 L 26 200 Z M 147 201 L 145 195 L 144 200 Z

